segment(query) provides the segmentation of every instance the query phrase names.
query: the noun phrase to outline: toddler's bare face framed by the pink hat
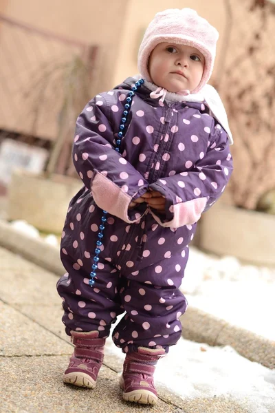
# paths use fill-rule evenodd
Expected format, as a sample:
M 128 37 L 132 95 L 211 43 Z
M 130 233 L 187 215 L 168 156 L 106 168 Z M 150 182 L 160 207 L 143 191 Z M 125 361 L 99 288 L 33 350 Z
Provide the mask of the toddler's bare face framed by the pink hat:
M 192 92 L 201 81 L 204 61 L 195 47 L 159 43 L 151 53 L 148 69 L 155 85 L 169 92 Z

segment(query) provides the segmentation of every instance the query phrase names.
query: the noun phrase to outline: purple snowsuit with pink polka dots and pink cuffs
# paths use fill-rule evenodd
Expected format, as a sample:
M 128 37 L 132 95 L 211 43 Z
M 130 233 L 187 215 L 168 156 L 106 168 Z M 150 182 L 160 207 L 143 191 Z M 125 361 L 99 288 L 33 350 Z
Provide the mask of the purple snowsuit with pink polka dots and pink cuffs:
M 133 78 L 97 95 L 76 122 L 74 165 L 85 186 L 69 204 L 61 241 L 67 273 L 58 281 L 63 323 L 70 330 L 113 332 L 124 352 L 144 346 L 168 352 L 181 335 L 186 299 L 179 286 L 188 244 L 201 213 L 219 198 L 232 173 L 228 135 L 202 103 L 162 103 L 142 85 L 114 150 Z M 165 214 L 146 203 L 151 188 Z M 108 211 L 96 283 L 89 285 L 102 209 Z

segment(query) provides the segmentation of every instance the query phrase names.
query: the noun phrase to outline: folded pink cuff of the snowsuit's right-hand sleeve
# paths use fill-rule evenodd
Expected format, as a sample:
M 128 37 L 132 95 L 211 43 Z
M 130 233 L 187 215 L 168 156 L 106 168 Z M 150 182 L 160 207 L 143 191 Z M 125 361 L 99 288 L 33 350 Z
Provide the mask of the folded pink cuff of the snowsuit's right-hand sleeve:
M 199 198 L 197 200 L 172 205 L 174 218 L 169 222 L 162 222 L 152 211 L 151 214 L 159 225 L 164 227 L 168 226 L 169 228 L 179 228 L 179 226 L 195 224 L 195 222 L 201 218 L 201 213 L 206 207 L 207 200 L 208 198 Z

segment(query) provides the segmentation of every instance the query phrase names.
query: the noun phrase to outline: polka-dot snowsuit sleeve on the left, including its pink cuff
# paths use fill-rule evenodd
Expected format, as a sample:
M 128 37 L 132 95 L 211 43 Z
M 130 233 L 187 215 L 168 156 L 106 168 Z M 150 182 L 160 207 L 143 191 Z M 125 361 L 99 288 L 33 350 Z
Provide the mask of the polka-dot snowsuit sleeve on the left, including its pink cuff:
M 129 204 L 148 191 L 148 182 L 115 151 L 113 125 L 117 123 L 119 128 L 123 108 L 107 105 L 102 95 L 91 100 L 76 121 L 74 166 L 98 207 L 125 222 L 136 222 L 146 204 L 131 210 Z

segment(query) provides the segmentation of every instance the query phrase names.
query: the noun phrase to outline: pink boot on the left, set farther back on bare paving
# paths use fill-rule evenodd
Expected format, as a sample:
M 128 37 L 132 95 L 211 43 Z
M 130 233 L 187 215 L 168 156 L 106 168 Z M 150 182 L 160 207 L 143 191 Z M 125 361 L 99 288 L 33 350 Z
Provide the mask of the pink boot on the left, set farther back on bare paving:
M 98 331 L 71 331 L 72 342 L 76 346 L 63 381 L 79 387 L 94 389 L 98 372 L 104 357 L 105 339 L 98 338 Z

